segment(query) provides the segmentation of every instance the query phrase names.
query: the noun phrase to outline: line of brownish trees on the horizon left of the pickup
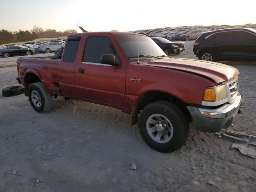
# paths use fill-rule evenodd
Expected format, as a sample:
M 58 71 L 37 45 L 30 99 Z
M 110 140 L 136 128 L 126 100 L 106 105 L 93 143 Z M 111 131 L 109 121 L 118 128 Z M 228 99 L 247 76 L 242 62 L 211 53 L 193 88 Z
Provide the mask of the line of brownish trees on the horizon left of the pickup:
M 32 41 L 38 38 L 58 38 L 68 36 L 69 34 L 77 33 L 74 29 L 62 31 L 56 31 L 55 29 L 43 30 L 41 27 L 34 25 L 32 30 L 19 30 L 15 32 L 10 32 L 8 30 L 0 30 L 0 45 L 15 43 L 15 42 L 25 42 Z

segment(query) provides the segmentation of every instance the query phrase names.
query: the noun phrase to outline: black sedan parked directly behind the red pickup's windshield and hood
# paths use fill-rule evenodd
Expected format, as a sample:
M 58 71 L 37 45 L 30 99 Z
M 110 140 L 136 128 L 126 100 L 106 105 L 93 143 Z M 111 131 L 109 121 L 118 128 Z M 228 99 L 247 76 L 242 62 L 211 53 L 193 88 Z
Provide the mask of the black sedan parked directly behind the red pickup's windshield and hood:
M 152 40 L 165 52 L 166 55 L 179 54 L 185 49 L 185 42 L 171 42 L 162 37 L 152 37 Z

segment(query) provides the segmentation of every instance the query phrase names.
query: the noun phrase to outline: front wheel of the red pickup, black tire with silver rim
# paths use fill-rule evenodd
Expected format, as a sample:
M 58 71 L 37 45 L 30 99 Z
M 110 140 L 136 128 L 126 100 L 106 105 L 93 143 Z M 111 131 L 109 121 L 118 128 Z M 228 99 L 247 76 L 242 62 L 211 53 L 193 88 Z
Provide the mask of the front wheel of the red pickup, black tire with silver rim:
M 157 127 L 151 124 L 150 120 L 157 122 Z M 182 110 L 167 101 L 157 101 L 147 105 L 140 113 L 138 126 L 146 144 L 159 152 L 172 152 L 179 149 L 186 142 L 189 133 L 189 123 Z M 152 132 L 154 129 L 156 131 Z M 158 134 L 161 136 L 156 141 Z M 166 138 L 164 134 L 167 134 Z

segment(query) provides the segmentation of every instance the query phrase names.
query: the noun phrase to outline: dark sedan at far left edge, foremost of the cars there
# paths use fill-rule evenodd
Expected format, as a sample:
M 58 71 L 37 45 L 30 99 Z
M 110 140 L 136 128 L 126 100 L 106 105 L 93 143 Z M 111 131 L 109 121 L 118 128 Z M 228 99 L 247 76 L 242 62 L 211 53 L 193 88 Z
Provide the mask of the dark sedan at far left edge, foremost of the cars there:
M 4 57 L 18 56 L 18 55 L 31 55 L 36 53 L 36 49 L 27 48 L 22 45 L 15 45 L 15 46 L 8 46 L 6 48 L 1 49 L 0 53 Z

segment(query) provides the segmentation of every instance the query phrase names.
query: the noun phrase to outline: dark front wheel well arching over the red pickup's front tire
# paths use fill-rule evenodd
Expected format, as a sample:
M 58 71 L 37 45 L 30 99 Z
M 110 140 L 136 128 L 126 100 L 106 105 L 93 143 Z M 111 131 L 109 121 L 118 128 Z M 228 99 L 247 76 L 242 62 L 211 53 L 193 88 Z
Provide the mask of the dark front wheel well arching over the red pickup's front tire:
M 179 98 L 174 96 L 173 94 L 163 92 L 163 91 L 148 91 L 141 94 L 138 99 L 136 100 L 134 107 L 132 108 L 131 112 L 131 125 L 134 125 L 138 122 L 138 114 L 141 110 L 143 110 L 144 107 L 146 107 L 148 104 L 155 102 L 155 101 L 168 101 L 175 105 L 177 105 L 179 108 L 182 109 L 184 114 L 187 116 L 188 120 L 191 121 L 192 118 L 190 116 L 190 113 L 188 109 L 186 108 L 187 104 L 182 102 Z

